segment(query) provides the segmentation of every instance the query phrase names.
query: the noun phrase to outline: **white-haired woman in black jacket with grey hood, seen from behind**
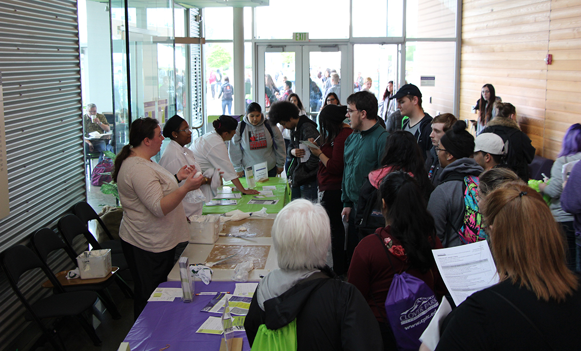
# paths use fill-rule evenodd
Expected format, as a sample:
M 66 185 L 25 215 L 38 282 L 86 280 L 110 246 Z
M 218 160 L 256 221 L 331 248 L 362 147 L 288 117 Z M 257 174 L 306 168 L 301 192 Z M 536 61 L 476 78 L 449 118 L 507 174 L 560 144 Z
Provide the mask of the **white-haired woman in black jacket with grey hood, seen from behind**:
M 325 266 L 331 227 L 321 205 L 305 199 L 286 205 L 272 242 L 280 268 L 260 281 L 250 303 L 244 327 L 251 346 L 263 349 L 264 335 L 296 325 L 299 350 L 383 349 L 363 295 Z

